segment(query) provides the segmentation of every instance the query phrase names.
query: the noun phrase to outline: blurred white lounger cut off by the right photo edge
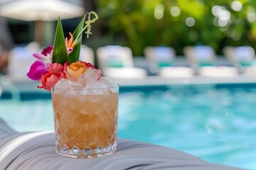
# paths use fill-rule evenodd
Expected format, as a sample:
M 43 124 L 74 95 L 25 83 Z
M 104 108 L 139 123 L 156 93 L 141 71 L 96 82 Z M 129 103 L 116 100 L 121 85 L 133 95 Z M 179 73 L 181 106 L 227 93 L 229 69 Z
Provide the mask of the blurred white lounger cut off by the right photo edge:
M 223 54 L 241 74 L 256 75 L 255 50 L 252 47 L 224 47 Z

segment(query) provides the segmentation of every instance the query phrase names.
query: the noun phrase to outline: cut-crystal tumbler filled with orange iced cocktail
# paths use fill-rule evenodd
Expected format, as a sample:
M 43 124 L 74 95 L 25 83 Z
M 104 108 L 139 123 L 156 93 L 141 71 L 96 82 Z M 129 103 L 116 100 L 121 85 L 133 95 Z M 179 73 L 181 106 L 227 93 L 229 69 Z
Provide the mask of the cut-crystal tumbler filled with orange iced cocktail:
M 52 90 L 58 154 L 100 157 L 117 147 L 119 86 Z

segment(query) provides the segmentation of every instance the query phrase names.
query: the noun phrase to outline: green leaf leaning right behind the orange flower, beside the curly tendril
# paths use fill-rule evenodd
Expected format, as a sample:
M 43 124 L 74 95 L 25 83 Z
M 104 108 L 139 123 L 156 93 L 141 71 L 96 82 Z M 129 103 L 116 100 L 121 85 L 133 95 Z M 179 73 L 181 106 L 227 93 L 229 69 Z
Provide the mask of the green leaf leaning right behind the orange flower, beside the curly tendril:
M 84 23 L 85 23 L 85 16 L 84 18 L 82 18 L 82 21 L 79 23 L 78 27 L 75 29 L 73 33 L 74 40 L 78 37 L 79 33 L 82 31 Z M 73 62 L 77 62 L 79 60 L 81 44 L 82 44 L 82 34 L 80 34 L 77 45 L 75 45 L 73 51 L 69 55 L 70 64 Z

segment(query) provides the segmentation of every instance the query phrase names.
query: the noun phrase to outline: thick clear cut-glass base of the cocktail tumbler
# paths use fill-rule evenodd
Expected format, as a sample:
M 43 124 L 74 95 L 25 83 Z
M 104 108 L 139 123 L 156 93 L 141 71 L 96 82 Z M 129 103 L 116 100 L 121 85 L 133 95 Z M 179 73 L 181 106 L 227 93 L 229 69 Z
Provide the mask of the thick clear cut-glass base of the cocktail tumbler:
M 68 148 L 62 147 L 56 144 L 56 152 L 64 157 L 71 158 L 93 158 L 93 157 L 102 157 L 108 154 L 112 154 L 117 149 L 117 142 L 114 142 L 113 145 L 108 144 L 106 147 L 97 147 L 97 148 L 85 148 L 80 149 L 78 147 Z

